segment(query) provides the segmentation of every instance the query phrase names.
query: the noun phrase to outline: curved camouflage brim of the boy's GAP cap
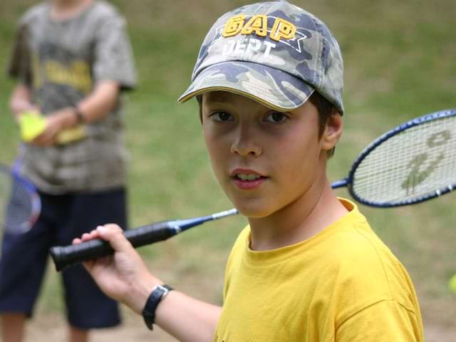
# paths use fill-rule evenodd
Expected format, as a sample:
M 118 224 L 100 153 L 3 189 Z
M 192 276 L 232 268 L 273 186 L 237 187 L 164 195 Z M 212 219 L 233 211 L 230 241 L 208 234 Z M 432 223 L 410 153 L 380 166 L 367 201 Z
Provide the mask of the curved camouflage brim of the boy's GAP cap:
M 258 63 L 229 61 L 199 73 L 178 101 L 184 103 L 209 91 L 229 91 L 274 110 L 286 111 L 306 103 L 314 88 L 289 73 Z

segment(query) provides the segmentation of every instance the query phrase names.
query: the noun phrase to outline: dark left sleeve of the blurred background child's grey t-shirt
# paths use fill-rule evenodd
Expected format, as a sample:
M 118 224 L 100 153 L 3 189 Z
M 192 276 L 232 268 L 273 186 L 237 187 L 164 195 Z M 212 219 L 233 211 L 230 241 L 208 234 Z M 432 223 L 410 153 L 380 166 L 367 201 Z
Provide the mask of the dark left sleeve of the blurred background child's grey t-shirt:
M 20 24 L 16 31 L 8 65 L 8 75 L 31 85 L 31 50 L 28 46 L 27 27 Z

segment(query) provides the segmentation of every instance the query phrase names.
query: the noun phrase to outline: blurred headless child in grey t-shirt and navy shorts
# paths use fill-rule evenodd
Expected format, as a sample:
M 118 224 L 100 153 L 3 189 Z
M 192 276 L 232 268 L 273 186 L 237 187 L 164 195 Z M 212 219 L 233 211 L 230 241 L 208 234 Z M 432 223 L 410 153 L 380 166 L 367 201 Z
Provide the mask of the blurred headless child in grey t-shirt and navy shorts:
M 125 20 L 104 1 L 37 4 L 19 22 L 9 74 L 18 81 L 15 118 L 33 110 L 46 120 L 43 133 L 24 144 L 21 162 L 38 187 L 41 216 L 27 234 L 6 234 L 1 249 L 0 339 L 16 342 L 33 313 L 49 247 L 104 222 L 125 227 L 122 93 L 136 82 Z M 65 272 L 63 284 L 69 341 L 118 325 L 117 303 L 82 266 Z

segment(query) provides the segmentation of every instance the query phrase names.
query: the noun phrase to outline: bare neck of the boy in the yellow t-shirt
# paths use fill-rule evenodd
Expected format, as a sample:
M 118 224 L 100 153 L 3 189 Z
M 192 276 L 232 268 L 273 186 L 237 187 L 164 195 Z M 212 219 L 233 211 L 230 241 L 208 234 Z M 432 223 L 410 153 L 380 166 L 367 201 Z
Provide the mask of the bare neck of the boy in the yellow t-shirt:
M 347 214 L 326 179 L 301 199 L 269 217 L 249 219 L 250 248 L 264 251 L 290 246 L 313 237 Z M 313 200 L 310 200 L 313 199 Z

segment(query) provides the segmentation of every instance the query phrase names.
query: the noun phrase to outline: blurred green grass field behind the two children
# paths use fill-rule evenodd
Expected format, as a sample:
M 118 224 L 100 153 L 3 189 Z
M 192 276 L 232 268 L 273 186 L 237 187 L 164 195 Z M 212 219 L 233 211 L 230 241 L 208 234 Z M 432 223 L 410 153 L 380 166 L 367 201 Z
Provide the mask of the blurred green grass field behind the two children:
M 229 209 L 209 167 L 197 105 L 179 105 L 176 99 L 189 84 L 209 27 L 225 11 L 249 1 L 112 2 L 128 19 L 140 77 L 138 90 L 128 96 L 127 110 L 130 225 Z M 6 66 L 17 19 L 33 3 L 0 2 L 0 66 Z M 329 163 L 332 180 L 344 177 L 358 152 L 386 130 L 418 115 L 456 107 L 456 1 L 295 3 L 328 24 L 344 56 L 345 131 Z M 13 86 L 1 73 L 1 162 L 11 162 L 19 144 L 7 106 Z M 452 193 L 412 207 L 361 207 L 410 272 L 425 330 L 437 327 L 453 336 L 456 294 L 448 290 L 447 280 L 456 273 L 455 200 Z M 244 223 L 235 217 L 206 224 L 141 252 L 169 284 L 220 302 L 224 261 Z M 43 291 L 38 310 L 61 311 L 55 272 L 50 272 Z

